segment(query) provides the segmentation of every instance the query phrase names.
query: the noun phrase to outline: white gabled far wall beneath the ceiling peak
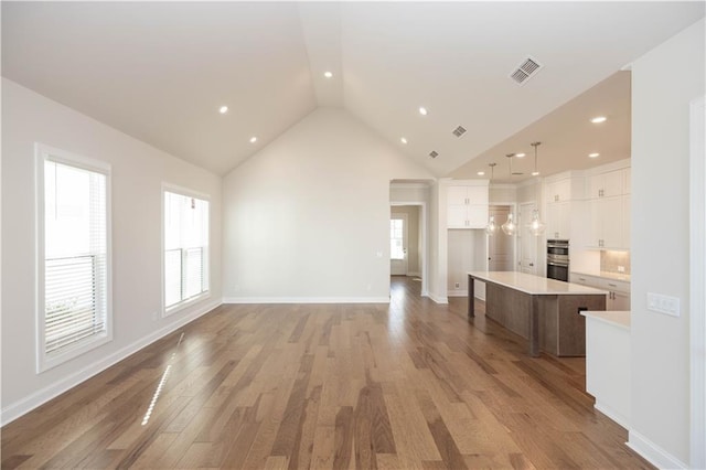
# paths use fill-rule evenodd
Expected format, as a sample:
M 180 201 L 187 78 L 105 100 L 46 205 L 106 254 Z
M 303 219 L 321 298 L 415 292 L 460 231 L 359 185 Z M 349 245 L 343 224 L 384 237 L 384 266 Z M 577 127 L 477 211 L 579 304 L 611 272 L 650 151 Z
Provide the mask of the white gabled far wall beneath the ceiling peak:
M 434 175 L 328 108 L 233 170 L 224 179 L 226 301 L 388 301 L 393 179 Z

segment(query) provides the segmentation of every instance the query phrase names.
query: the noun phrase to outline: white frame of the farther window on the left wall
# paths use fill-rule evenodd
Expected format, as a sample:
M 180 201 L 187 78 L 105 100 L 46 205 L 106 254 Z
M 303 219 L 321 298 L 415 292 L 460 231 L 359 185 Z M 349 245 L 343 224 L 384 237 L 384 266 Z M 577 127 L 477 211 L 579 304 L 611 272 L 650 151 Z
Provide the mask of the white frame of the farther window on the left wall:
M 185 197 L 194 197 L 194 199 L 199 199 L 202 201 L 206 201 L 208 203 L 208 224 L 207 224 L 207 236 L 206 239 L 208 241 L 208 245 L 206 246 L 206 256 L 204 257 L 204 277 L 206 278 L 206 286 L 207 289 L 204 290 L 203 292 L 199 293 L 197 296 L 191 297 L 189 299 L 182 300 L 178 303 L 174 303 L 170 307 L 167 307 L 167 275 L 164 273 L 164 252 L 165 252 L 165 221 L 164 221 L 164 194 L 165 193 L 173 193 L 173 194 L 179 194 L 179 195 L 183 195 Z M 188 188 L 183 188 L 183 186 L 179 186 L 175 184 L 171 184 L 171 183 L 162 183 L 162 190 L 160 193 L 161 196 L 161 209 L 162 209 L 162 216 L 161 216 L 161 273 L 162 273 L 162 299 L 161 299 L 161 317 L 165 318 L 169 316 L 172 316 L 181 310 L 188 309 L 189 307 L 201 302 L 202 300 L 208 299 L 211 298 L 211 195 L 206 194 L 206 193 L 201 193 L 199 191 L 194 191 L 194 190 L 190 190 Z

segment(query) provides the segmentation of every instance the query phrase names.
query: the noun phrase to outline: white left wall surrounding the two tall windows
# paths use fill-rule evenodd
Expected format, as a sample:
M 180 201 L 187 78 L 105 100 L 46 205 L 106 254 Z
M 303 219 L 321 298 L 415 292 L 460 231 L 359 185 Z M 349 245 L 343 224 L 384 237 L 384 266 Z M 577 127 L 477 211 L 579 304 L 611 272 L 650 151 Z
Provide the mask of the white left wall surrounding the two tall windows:
M 2 420 L 38 406 L 221 302 L 221 178 L 2 79 Z M 34 142 L 113 165 L 114 340 L 35 372 Z M 211 299 L 167 319 L 161 183 L 211 196 Z

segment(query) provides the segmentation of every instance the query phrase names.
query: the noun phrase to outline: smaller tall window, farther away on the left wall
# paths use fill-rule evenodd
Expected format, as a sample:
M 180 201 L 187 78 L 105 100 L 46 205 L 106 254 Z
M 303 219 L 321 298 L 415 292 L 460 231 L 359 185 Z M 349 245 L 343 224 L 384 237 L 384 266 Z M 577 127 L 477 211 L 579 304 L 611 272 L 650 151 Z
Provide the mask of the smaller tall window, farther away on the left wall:
M 164 311 L 208 291 L 208 201 L 164 191 Z

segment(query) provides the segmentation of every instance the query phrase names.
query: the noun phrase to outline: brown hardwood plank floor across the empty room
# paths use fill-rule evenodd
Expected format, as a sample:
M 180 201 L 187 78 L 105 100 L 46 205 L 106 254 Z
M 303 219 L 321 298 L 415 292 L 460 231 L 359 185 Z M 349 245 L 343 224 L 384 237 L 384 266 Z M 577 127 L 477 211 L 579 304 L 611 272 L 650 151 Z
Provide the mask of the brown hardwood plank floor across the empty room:
M 2 428 L 2 468 L 652 468 L 585 361 L 438 306 L 222 306 Z

